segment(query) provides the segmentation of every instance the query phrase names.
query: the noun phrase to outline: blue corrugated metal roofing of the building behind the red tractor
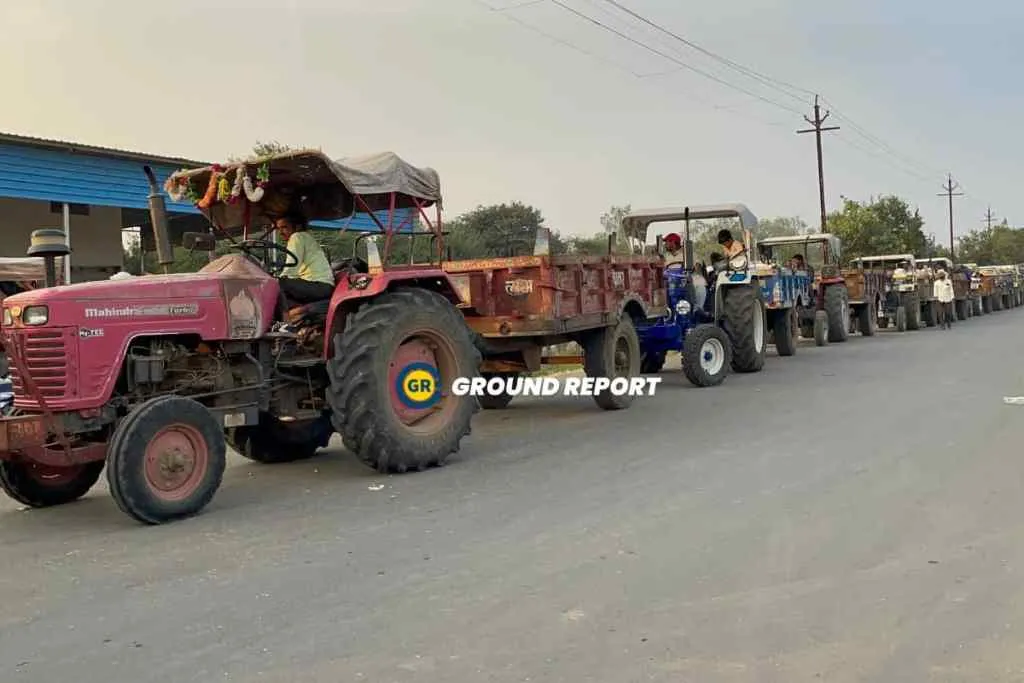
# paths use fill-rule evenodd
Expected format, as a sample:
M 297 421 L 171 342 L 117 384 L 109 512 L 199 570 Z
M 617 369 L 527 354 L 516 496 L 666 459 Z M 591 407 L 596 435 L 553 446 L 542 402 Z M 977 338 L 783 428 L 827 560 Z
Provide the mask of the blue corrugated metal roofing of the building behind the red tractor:
M 181 164 L 168 162 L 180 161 Z M 0 136 L 0 197 L 43 202 L 67 202 L 120 209 L 148 209 L 150 187 L 142 173 L 148 164 L 157 180 L 163 183 L 182 166 L 200 166 L 201 162 L 173 160 L 100 147 L 77 147 L 70 142 Z M 167 210 L 177 213 L 200 213 L 188 202 L 174 202 L 165 197 Z M 395 225 L 407 220 L 408 210 L 395 211 Z M 378 218 L 387 225 L 387 212 Z M 349 219 L 316 221 L 313 227 L 347 228 L 356 231 L 379 231 L 369 214 L 357 213 Z M 403 227 L 409 231 L 412 227 Z

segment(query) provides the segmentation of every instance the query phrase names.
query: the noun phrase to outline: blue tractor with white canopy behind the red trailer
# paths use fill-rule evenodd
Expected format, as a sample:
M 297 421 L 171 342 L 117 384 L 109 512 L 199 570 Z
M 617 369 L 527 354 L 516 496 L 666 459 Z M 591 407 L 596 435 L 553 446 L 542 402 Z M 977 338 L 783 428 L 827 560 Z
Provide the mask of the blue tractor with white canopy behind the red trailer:
M 690 221 L 719 218 L 737 219 L 749 245 L 745 228 L 757 219 L 741 204 L 634 211 L 623 218 L 623 237 L 634 250 L 645 247 L 651 223 L 683 223 L 682 256 L 670 255 L 667 260 L 676 262 L 665 269 L 667 309 L 637 325 L 642 373 L 659 372 L 669 351 L 679 351 L 683 374 L 699 387 L 721 384 L 730 369 L 753 373 L 764 367 L 764 302 L 745 248 L 713 276 L 694 271 Z M 655 251 L 664 252 L 660 238 Z

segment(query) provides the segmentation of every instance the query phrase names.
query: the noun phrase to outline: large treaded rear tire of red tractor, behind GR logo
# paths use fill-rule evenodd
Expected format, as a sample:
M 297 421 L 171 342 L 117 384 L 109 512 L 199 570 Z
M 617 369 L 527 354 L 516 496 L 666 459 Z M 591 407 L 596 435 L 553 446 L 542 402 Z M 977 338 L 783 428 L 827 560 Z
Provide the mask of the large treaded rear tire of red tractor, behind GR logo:
M 365 302 L 334 337 L 328 364 L 335 429 L 345 447 L 378 472 L 442 465 L 470 432 L 475 396 L 450 390 L 479 374 L 480 352 L 459 310 L 429 290 L 388 292 Z M 408 395 L 412 373 L 433 382 Z

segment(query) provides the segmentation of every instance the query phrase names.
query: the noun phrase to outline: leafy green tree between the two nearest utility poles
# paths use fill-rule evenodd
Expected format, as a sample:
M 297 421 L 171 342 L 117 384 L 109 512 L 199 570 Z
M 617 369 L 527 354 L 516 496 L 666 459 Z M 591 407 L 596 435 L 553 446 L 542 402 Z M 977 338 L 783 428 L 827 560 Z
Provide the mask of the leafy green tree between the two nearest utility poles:
M 925 255 L 935 244 L 925 234 L 918 210 L 895 196 L 868 203 L 843 198 L 843 208 L 828 217 L 828 231 L 843 241 L 849 259 L 882 254 Z

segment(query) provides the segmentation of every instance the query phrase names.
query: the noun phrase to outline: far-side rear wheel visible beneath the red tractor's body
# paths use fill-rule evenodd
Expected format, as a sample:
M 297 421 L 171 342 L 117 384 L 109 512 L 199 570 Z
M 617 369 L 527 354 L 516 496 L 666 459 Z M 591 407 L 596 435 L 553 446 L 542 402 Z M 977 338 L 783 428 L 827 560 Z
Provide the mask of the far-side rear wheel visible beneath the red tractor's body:
M 259 417 L 259 424 L 254 427 L 236 427 L 230 441 L 243 458 L 265 465 L 312 458 L 334 433 L 330 414 L 301 422 L 282 422 L 266 413 Z

